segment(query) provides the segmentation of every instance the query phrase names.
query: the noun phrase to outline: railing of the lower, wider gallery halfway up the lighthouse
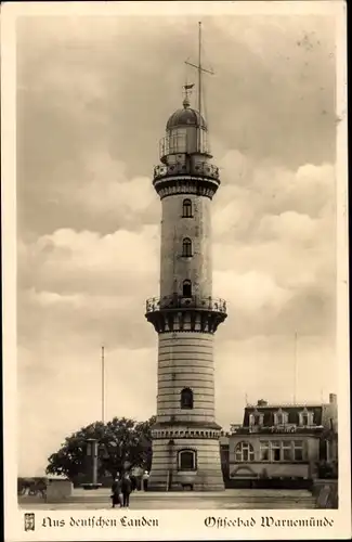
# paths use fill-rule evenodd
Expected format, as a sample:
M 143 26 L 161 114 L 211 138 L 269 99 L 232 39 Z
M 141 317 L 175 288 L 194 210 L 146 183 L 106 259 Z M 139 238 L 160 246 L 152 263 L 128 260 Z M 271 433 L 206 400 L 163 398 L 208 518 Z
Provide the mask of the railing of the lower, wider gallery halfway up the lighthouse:
M 156 312 L 162 309 L 203 309 L 214 312 L 226 313 L 226 301 L 224 299 L 214 299 L 212 297 L 183 297 L 165 296 L 161 298 L 152 297 L 146 301 L 146 312 Z

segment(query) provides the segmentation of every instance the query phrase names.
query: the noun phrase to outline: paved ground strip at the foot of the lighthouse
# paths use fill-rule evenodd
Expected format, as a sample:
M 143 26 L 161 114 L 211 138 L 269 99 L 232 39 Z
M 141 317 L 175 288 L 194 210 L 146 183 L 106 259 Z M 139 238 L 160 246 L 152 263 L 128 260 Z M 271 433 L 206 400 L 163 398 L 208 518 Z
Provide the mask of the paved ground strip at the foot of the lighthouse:
M 74 490 L 69 502 L 45 503 L 42 499 L 24 496 L 22 508 L 30 509 L 109 509 L 110 491 Z M 130 500 L 132 509 L 275 509 L 313 508 L 314 499 L 305 490 L 235 489 L 223 492 L 135 492 Z M 116 509 L 119 514 L 119 508 Z

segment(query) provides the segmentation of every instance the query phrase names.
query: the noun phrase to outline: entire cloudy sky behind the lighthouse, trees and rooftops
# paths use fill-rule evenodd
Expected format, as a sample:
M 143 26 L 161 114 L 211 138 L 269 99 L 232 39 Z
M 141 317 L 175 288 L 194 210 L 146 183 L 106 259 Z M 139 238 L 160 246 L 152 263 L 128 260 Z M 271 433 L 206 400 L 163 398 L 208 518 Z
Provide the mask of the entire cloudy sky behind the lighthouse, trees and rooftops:
M 158 141 L 196 60 L 198 17 L 17 22 L 19 473 L 66 435 L 155 413 Z M 218 422 L 247 395 L 336 391 L 335 27 L 331 16 L 204 16 L 213 203 Z M 188 80 L 192 75 L 188 73 Z

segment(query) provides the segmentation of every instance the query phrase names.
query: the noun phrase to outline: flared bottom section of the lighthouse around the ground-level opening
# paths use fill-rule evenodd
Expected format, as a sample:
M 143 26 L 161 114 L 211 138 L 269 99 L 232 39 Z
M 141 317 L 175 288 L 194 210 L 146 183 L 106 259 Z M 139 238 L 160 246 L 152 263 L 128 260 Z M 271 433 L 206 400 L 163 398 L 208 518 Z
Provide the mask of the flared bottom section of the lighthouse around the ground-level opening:
M 224 490 L 218 430 L 207 433 L 212 436 L 154 440 L 148 488 L 152 491 Z

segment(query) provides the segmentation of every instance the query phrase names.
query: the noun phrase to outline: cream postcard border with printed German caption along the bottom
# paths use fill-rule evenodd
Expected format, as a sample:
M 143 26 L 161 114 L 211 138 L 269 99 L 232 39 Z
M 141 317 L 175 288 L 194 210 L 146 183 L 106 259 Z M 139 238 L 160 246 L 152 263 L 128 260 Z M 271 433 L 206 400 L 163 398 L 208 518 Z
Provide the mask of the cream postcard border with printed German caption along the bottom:
M 16 398 L 16 168 L 15 168 L 15 18 L 19 15 L 96 15 L 119 13 L 121 15 L 213 14 L 217 13 L 324 13 L 337 18 L 337 250 L 338 250 L 338 343 L 339 367 L 339 509 L 337 511 L 128 511 L 114 514 L 112 511 L 43 511 L 30 509 L 36 514 L 36 531 L 24 532 L 23 520 L 26 511 L 17 506 L 17 398 Z M 3 284 L 3 382 L 4 382 L 4 517 L 5 540 L 190 540 L 190 539 L 318 539 L 349 538 L 351 535 L 351 487 L 350 487 L 350 397 L 349 397 L 349 276 L 348 276 L 348 154 L 347 154 L 347 28 L 346 7 L 342 1 L 330 2 L 71 2 L 71 3 L 10 3 L 2 7 L 2 284 Z M 54 505 L 53 505 L 54 507 Z M 106 516 L 121 518 L 156 518 L 158 527 L 93 528 L 67 526 L 69 518 Z M 261 517 L 275 519 L 328 518 L 331 527 L 261 527 Z M 40 527 L 44 517 L 64 519 L 62 528 Z M 222 520 L 255 518 L 257 525 L 206 527 L 207 517 Z

